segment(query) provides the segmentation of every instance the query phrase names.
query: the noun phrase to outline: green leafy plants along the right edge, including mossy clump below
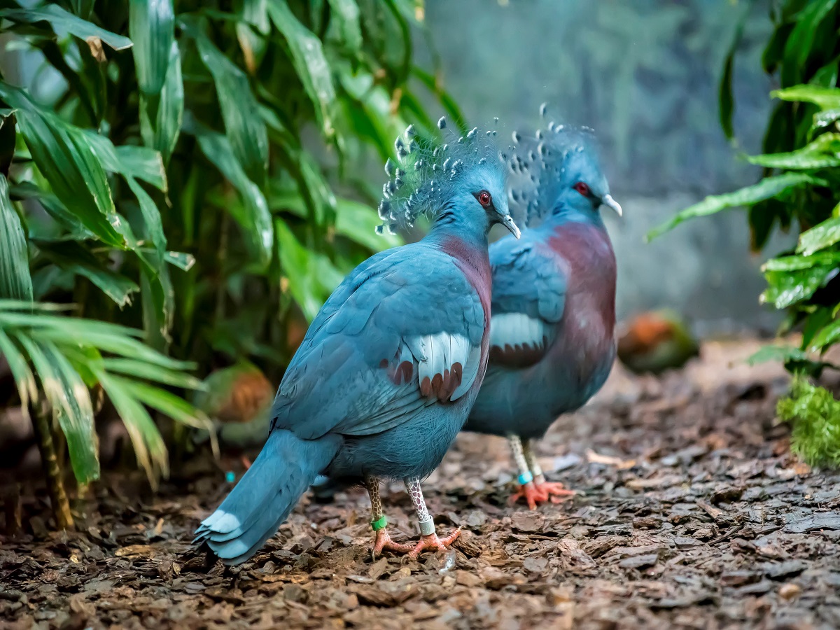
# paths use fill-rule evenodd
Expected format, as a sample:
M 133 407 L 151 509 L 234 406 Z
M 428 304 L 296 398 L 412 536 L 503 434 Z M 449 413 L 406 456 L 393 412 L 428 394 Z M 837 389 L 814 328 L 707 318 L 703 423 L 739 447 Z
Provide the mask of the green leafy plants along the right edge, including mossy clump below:
M 794 422 L 793 449 L 811 463 L 840 465 L 840 402 L 811 386 L 803 374 L 837 369 L 815 355 L 840 341 L 840 3 L 785 0 L 771 11 L 774 33 L 764 49 L 764 70 L 778 77 L 771 96 L 779 104 L 770 115 L 762 155 L 747 157 L 762 166 L 753 186 L 706 197 L 654 229 L 651 237 L 688 218 L 748 207 L 753 249 L 763 249 L 776 228 L 794 223 L 799 240 L 762 267 L 767 289 L 761 295 L 788 311 L 783 327 L 799 326 L 801 348 L 771 347 L 751 362 L 782 360 L 798 374 L 779 414 Z M 724 133 L 732 137 L 732 65 L 740 29 L 722 73 L 720 111 Z

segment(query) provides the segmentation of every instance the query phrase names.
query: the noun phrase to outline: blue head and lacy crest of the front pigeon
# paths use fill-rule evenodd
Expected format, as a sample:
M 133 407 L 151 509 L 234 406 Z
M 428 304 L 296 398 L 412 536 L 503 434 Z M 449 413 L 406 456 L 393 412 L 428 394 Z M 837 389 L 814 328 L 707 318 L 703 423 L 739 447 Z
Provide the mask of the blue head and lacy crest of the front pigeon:
M 396 139 L 398 162 L 388 160 L 382 188 L 377 231 L 411 227 L 422 214 L 436 224 L 454 224 L 477 234 L 486 234 L 501 223 L 519 238 L 506 194 L 504 160 L 492 143 L 495 131 L 471 129 L 458 136 L 438 120 L 444 140 L 421 139 L 409 125 Z

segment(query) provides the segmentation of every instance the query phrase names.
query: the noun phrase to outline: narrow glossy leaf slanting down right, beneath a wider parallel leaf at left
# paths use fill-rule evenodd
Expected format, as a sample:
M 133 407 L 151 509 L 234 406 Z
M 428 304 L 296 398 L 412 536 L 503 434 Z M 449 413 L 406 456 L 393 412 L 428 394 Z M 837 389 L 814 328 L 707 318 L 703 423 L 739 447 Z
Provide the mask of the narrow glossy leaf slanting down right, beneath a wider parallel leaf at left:
M 197 132 L 197 139 L 207 160 L 222 172 L 242 196 L 244 203 L 241 206 L 228 207 L 228 212 L 242 226 L 244 237 L 249 241 L 260 263 L 267 265 L 271 260 L 274 234 L 271 229 L 271 214 L 263 193 L 245 175 L 225 136 L 200 130 Z

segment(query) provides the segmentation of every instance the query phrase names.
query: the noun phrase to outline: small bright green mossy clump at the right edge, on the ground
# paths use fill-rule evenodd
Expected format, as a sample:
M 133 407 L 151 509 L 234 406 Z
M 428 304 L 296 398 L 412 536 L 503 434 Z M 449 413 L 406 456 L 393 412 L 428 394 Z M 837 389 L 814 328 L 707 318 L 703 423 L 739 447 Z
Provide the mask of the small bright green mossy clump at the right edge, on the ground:
M 790 450 L 809 465 L 840 467 L 840 401 L 830 391 L 795 375 L 776 413 L 793 425 Z

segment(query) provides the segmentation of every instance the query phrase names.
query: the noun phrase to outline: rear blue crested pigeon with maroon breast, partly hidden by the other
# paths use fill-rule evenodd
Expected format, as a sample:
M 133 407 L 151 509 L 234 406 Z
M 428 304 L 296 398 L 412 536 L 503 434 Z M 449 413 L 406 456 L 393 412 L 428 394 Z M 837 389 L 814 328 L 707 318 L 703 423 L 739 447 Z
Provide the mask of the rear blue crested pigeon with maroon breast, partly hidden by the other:
M 465 431 L 508 438 L 521 486 L 512 501 L 534 509 L 574 492 L 546 482 L 533 441 L 589 400 L 615 359 L 616 258 L 600 208 L 622 208 L 589 130 L 549 123 L 513 139 L 512 179 L 525 186 L 512 202 L 543 220 L 491 245 L 490 365 Z

